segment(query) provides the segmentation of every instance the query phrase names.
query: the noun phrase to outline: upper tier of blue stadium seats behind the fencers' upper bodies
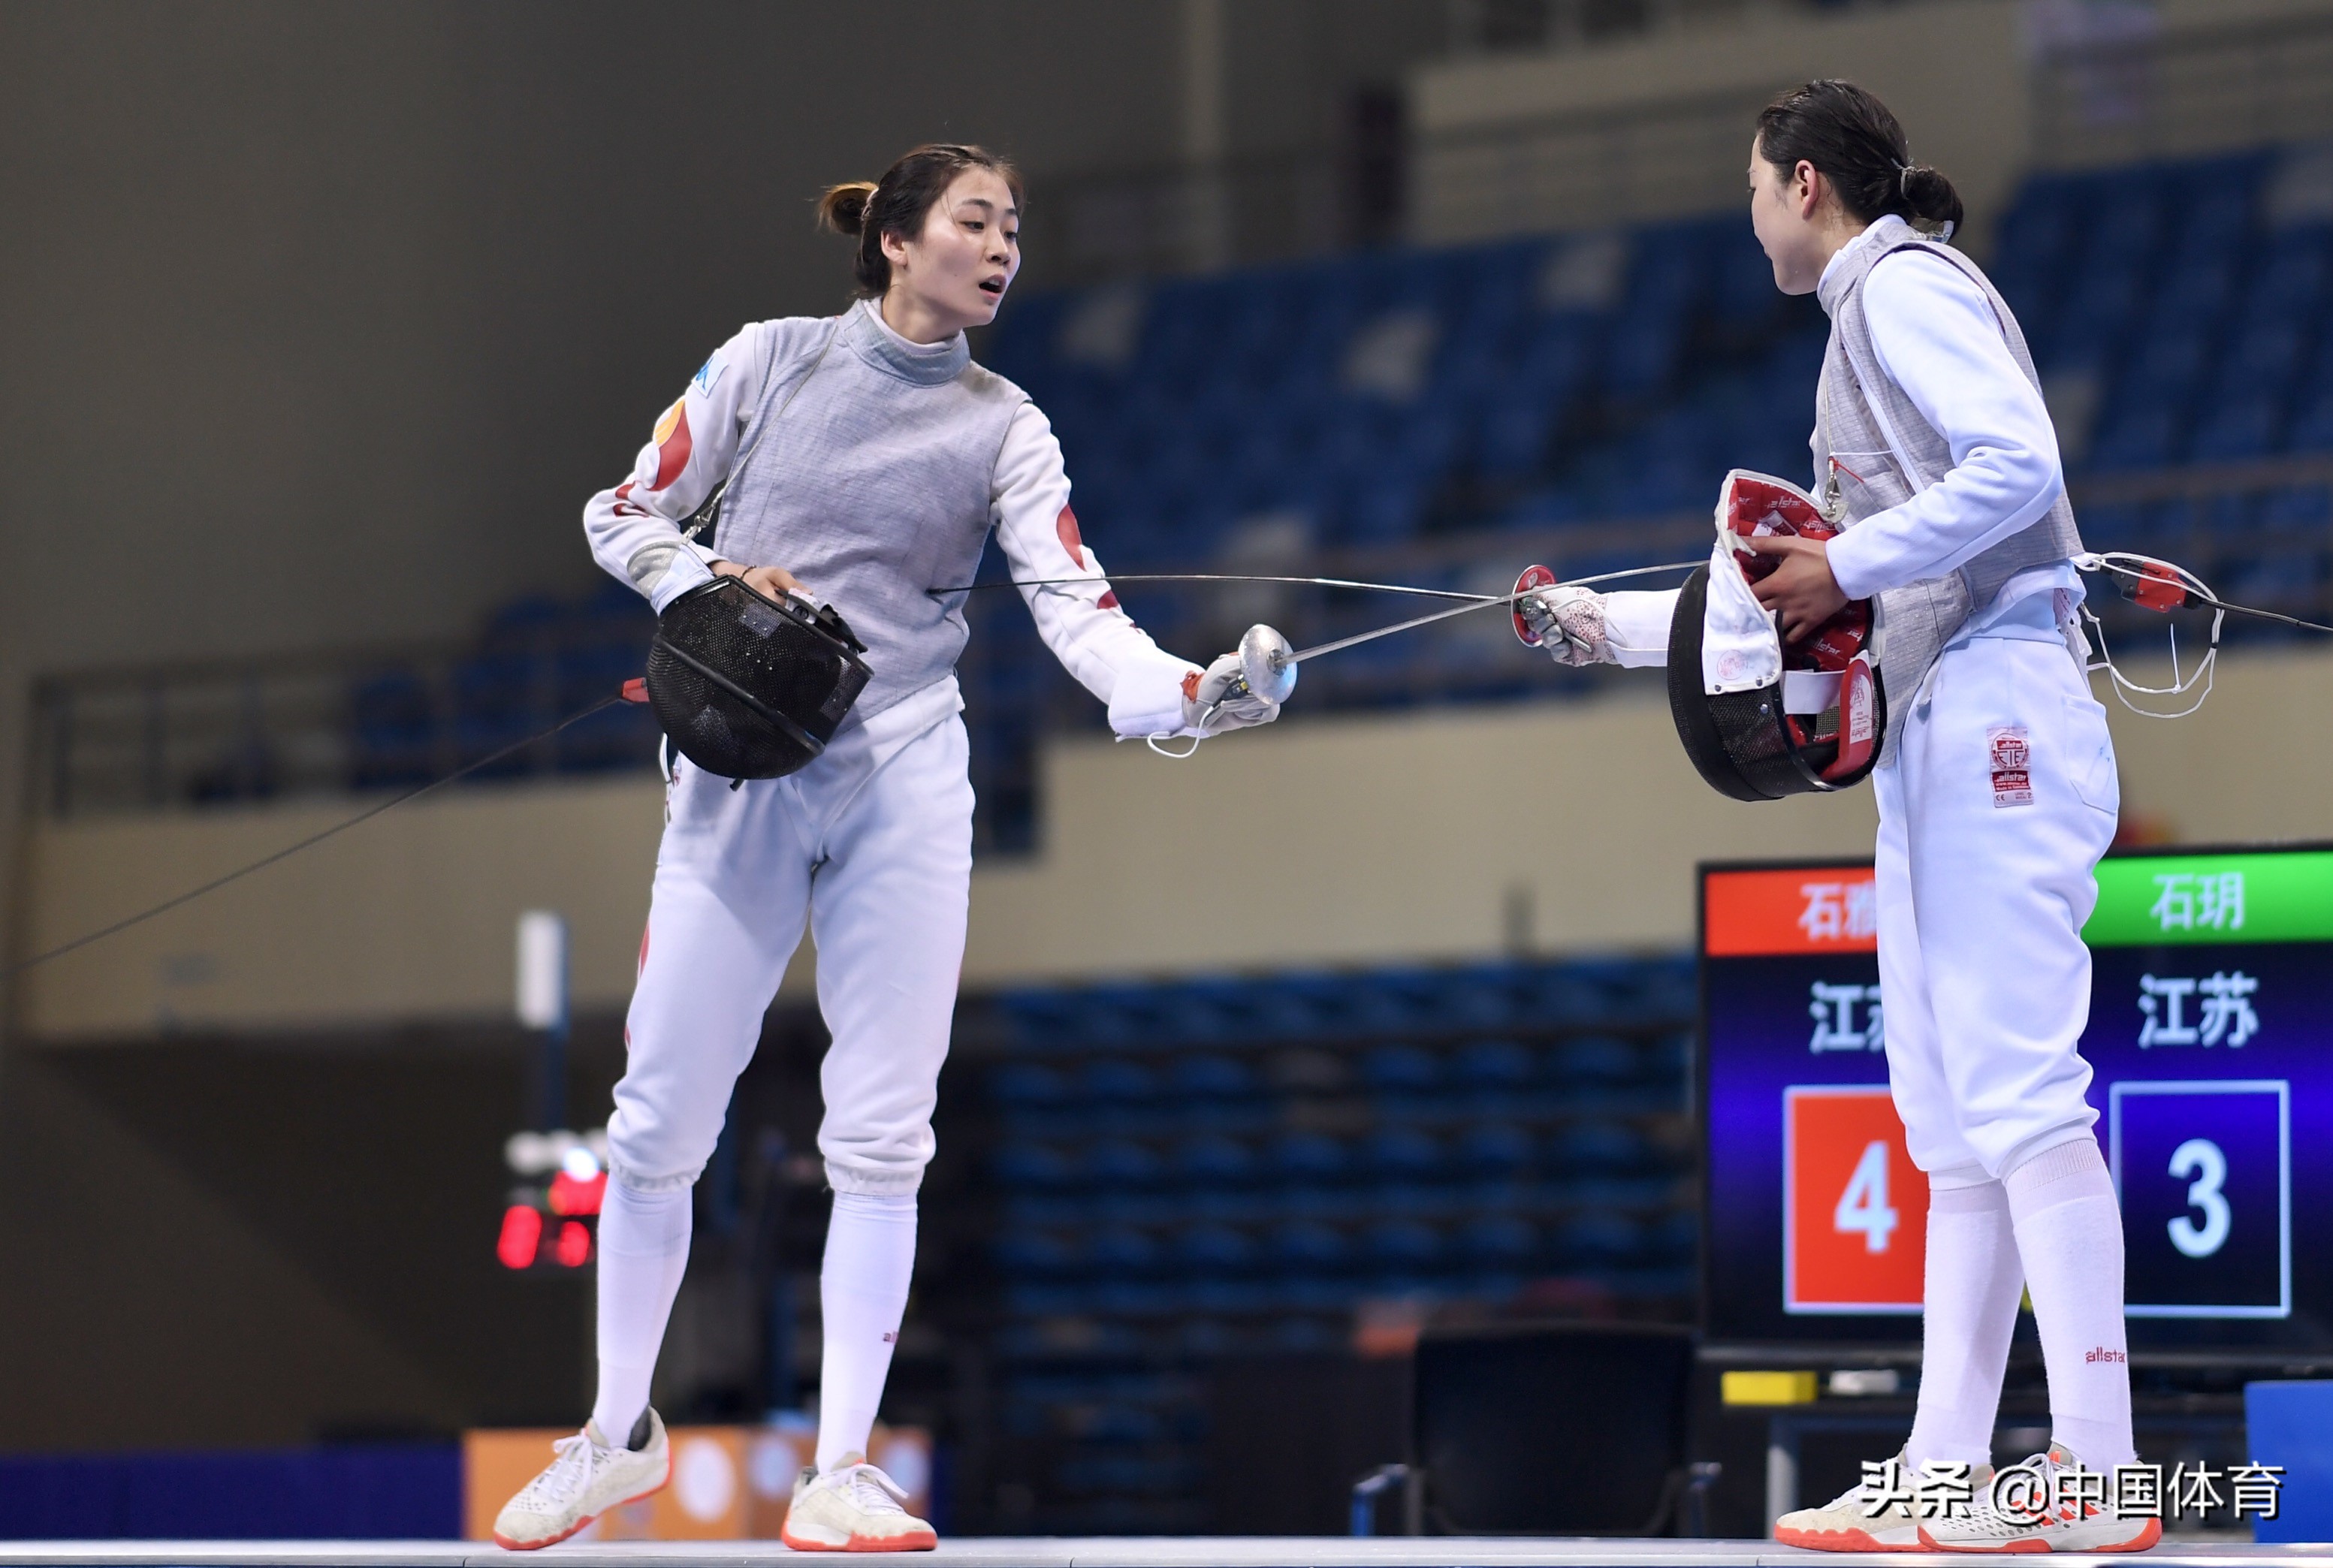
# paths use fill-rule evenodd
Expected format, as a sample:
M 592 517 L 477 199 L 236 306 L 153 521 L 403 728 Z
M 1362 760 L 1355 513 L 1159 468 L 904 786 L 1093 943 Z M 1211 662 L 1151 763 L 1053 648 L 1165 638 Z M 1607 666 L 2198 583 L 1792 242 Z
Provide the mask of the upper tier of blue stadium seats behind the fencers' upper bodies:
M 2270 149 L 2034 175 L 1990 257 L 2041 366 L 2093 548 L 2174 553 L 2289 614 L 2324 611 L 2333 581 L 2324 163 Z M 1451 565 L 1453 541 L 1505 569 L 1519 546 L 1500 539 L 1523 530 L 1575 539 L 1572 576 L 1645 565 L 1633 530 L 1689 520 L 1729 467 L 1803 474 L 1822 341 L 1820 308 L 1773 289 L 1726 212 L 1034 294 L 982 352 L 1050 413 L 1085 537 L 1118 572 L 1304 572 L 1374 553 L 1383 574 L 1479 588 L 1486 576 Z M 2216 478 L 2081 502 L 2086 483 L 2144 492 L 2163 474 Z M 1001 574 L 994 553 L 987 574 Z M 1185 653 L 1236 637 L 1204 595 L 1134 597 Z M 1057 670 L 1015 595 L 973 595 L 968 614 L 978 845 L 1027 849 L 1038 737 L 1099 723 L 1099 705 Z M 1388 618 L 1367 595 L 1257 611 L 1283 614 L 1320 635 Z M 609 583 L 586 604 L 504 609 L 450 677 L 366 674 L 348 702 L 350 779 L 411 784 L 490 756 L 637 674 L 646 630 L 637 595 Z M 1500 628 L 1458 621 L 1309 667 L 1302 702 L 1589 686 Z M 644 712 L 616 709 L 495 772 L 635 768 L 653 744 Z

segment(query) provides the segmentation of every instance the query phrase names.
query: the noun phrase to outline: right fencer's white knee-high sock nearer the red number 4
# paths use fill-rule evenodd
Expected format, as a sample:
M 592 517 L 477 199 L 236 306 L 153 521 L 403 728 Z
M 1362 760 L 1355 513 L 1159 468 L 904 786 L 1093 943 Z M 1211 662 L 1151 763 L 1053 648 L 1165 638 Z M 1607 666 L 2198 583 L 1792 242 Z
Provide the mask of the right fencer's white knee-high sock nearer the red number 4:
M 2018 1325 L 2025 1274 L 2009 1192 L 1978 1167 L 1969 1176 L 1929 1176 L 1920 1407 L 1906 1451 L 1915 1472 L 1927 1461 L 1992 1463 L 1992 1421 Z

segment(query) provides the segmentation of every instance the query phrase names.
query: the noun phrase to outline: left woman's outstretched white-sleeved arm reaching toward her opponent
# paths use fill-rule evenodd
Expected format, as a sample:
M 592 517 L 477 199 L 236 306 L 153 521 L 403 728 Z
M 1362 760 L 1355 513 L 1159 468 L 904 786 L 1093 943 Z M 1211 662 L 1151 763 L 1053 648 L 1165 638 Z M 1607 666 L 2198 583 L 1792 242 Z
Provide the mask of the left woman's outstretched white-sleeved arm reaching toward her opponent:
M 1183 684 L 1199 667 L 1150 642 L 1150 632 L 1118 604 L 1101 562 L 1078 532 L 1062 443 L 1036 404 L 1022 404 L 1006 427 L 989 516 L 1015 581 L 1087 579 L 1022 588 L 1022 597 L 1062 667 L 1108 702 L 1111 728 L 1125 737 L 1183 733 Z

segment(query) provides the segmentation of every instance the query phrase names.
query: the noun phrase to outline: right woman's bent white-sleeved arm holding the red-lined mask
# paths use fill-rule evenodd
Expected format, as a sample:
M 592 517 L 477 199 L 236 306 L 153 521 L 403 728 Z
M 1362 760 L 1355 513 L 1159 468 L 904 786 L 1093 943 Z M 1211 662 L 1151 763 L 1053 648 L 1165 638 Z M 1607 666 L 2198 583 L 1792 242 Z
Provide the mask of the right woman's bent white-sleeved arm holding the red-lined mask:
M 1967 273 L 1901 250 L 1864 278 L 1864 322 L 1880 369 L 1946 439 L 1953 469 L 1829 541 L 1831 576 L 1850 600 L 1953 572 L 2037 523 L 2065 490 L 2041 392 Z M 1838 483 L 1855 478 L 1841 474 Z

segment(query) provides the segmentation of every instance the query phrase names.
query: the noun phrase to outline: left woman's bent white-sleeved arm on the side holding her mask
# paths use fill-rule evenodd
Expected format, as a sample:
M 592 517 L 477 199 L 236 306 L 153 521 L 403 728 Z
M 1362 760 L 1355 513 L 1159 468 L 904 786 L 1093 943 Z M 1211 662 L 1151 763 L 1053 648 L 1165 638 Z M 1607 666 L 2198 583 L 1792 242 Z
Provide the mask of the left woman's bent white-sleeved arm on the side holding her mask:
M 714 553 L 681 539 L 681 525 L 705 504 L 737 462 L 737 436 L 772 366 L 798 376 L 817 359 L 831 324 L 814 317 L 754 322 L 688 378 L 665 408 L 649 443 L 632 460 L 632 476 L 583 506 L 593 558 L 663 614 L 665 604 L 712 579 Z M 784 562 L 779 562 L 784 565 Z

